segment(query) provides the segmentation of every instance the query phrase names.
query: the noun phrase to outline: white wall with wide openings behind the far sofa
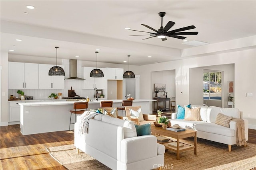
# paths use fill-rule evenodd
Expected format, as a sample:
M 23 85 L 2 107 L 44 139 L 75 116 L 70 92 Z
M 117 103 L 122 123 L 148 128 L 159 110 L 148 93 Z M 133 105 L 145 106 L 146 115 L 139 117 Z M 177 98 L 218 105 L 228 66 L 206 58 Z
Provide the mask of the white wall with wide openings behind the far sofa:
M 140 66 L 140 97 L 152 98 L 152 80 L 150 72 L 176 70 L 176 104 L 181 106 L 190 102 L 189 75 L 190 68 L 233 64 L 234 63 L 234 96 L 235 106 L 244 112 L 249 120 L 250 128 L 256 129 L 256 49 L 208 55 L 192 59 L 170 61 L 166 63 L 148 64 Z M 147 70 L 145 72 L 144 70 Z M 180 93 L 182 92 L 182 94 Z M 246 97 L 245 93 L 253 93 L 253 97 Z M 250 116 L 250 117 L 249 117 Z

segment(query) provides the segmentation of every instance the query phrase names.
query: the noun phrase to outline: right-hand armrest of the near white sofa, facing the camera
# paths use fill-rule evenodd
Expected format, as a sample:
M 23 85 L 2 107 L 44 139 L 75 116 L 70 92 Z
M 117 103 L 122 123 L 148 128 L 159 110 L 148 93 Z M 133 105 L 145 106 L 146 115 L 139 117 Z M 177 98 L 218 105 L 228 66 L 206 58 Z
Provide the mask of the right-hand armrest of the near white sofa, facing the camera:
M 153 135 L 144 135 L 122 139 L 120 162 L 129 164 L 157 156 L 157 139 Z

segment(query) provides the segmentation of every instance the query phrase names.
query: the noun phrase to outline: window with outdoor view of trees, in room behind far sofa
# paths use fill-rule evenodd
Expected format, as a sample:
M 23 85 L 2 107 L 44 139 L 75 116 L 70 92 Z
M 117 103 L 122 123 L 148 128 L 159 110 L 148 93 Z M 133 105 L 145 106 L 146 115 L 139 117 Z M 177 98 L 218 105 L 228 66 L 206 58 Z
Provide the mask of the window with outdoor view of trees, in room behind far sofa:
M 221 72 L 204 72 L 204 100 L 221 100 Z

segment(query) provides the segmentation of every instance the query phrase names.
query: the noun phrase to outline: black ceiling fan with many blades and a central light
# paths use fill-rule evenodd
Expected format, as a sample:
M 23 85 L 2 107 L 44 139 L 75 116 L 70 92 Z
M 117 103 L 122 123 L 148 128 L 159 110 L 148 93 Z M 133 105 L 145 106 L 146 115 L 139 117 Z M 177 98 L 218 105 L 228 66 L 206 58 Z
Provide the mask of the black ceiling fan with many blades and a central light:
M 148 37 L 148 38 L 145 38 L 145 39 L 149 39 L 149 38 L 153 38 L 153 37 L 158 37 L 158 38 L 161 38 L 162 41 L 165 41 L 167 40 L 166 37 L 173 37 L 173 38 L 178 38 L 178 39 L 185 39 L 186 37 L 183 37 L 183 36 L 179 36 L 179 35 L 197 35 L 198 32 L 180 32 L 180 31 L 186 31 L 186 30 L 189 30 L 189 29 L 194 29 L 196 28 L 194 25 L 190 25 L 188 27 L 183 27 L 183 28 L 179 28 L 179 29 L 174 29 L 172 31 L 168 31 L 174 24 L 175 22 L 172 22 L 172 21 L 169 21 L 165 27 L 163 27 L 163 17 L 165 16 L 165 12 L 159 12 L 158 15 L 161 17 L 161 27 L 156 30 L 148 25 L 145 25 L 145 24 L 141 24 L 153 31 L 155 31 L 156 33 L 151 33 L 151 32 L 146 32 L 146 31 L 139 31 L 139 32 L 144 32 L 144 33 L 150 33 L 150 34 L 144 34 L 144 35 L 150 35 L 152 37 Z M 134 30 L 134 29 L 128 29 L 128 30 L 131 30 L 131 31 L 138 31 L 138 30 Z M 129 35 L 129 36 L 140 36 L 140 35 Z

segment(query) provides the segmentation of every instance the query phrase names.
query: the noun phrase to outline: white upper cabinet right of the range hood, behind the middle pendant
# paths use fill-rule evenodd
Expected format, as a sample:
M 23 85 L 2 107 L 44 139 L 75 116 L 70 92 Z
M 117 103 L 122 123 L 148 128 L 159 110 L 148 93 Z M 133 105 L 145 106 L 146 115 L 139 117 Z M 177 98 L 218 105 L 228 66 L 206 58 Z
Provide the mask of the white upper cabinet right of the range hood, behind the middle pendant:
M 85 79 L 83 81 L 83 86 L 82 89 L 104 89 L 104 77 L 90 77 L 90 72 L 95 69 L 94 67 L 82 67 L 82 78 Z M 104 73 L 104 68 L 98 68 L 103 71 Z M 105 76 L 105 73 L 104 73 Z

